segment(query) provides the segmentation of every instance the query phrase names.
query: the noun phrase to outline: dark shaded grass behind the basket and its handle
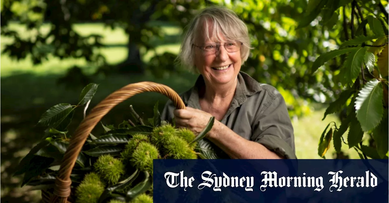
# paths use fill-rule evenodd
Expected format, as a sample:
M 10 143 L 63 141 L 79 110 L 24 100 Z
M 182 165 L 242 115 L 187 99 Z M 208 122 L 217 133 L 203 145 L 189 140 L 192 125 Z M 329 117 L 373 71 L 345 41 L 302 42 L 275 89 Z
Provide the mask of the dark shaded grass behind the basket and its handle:
M 38 76 L 20 73 L 0 79 L 0 202 L 33 203 L 39 202 L 40 191 L 27 191 L 28 187 L 20 187 L 23 175 L 13 177 L 19 161 L 43 137 L 45 128 L 37 125 L 40 116 L 51 106 L 59 103 L 77 104 L 82 85 L 73 85 L 66 88 L 58 85 L 60 75 Z M 115 90 L 140 81 L 152 81 L 165 84 L 177 93 L 183 92 L 193 85 L 196 76 L 172 76 L 167 79 L 155 80 L 139 75 L 112 75 L 107 78 L 93 78 L 91 82 L 99 84 L 95 97 L 88 110 L 102 101 Z M 123 120 L 131 118 L 129 105 L 144 118 L 151 118 L 154 104 L 159 102 L 162 111 L 168 100 L 162 94 L 147 92 L 137 94 L 115 106 L 101 120 L 104 125 L 118 125 Z M 88 113 L 88 111 L 87 111 Z M 69 134 L 74 132 L 83 118 L 82 109 L 76 109 Z M 103 128 L 98 124 L 92 133 L 99 134 Z

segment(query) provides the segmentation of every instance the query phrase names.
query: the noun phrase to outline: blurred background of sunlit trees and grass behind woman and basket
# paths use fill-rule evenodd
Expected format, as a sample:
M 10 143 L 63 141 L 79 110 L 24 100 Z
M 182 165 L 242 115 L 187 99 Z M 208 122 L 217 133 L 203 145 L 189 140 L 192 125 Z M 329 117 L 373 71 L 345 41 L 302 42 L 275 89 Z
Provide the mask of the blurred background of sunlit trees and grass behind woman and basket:
M 342 114 L 333 114 L 322 121 L 326 105 L 344 88 L 338 77 L 344 57 L 327 62 L 314 75 L 309 69 L 320 54 L 337 49 L 351 34 L 343 29 L 350 24 L 351 0 L 328 0 L 318 16 L 307 16 L 324 7 L 321 2 L 0 0 L 0 202 L 39 200 L 39 191 L 19 188 L 20 177 L 12 177 L 12 171 L 43 136 L 43 128 L 36 125 L 39 116 L 55 104 L 77 101 L 86 84 L 100 84 L 91 106 L 128 83 L 148 80 L 177 92 L 190 88 L 197 75 L 173 61 L 187 23 L 210 5 L 229 7 L 247 23 L 254 49 L 242 71 L 284 96 L 298 158 L 320 158 L 321 132 L 330 121 L 342 119 Z M 387 1 L 358 2 L 363 15 L 366 8 L 387 15 Z M 166 102 L 158 94 L 136 95 L 102 122 L 126 120 L 129 115 L 123 112 L 129 104 L 151 115 L 157 100 Z M 75 118 L 80 121 L 82 112 Z M 77 127 L 77 121 L 71 126 Z M 333 158 L 359 158 L 347 146 L 342 150 Z

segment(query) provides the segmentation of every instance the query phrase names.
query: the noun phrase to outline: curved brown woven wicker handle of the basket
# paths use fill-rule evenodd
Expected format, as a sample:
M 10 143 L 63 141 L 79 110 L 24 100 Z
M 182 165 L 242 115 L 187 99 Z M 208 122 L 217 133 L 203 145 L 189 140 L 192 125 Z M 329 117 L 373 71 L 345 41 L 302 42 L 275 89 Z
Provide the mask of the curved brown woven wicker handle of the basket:
M 70 196 L 70 185 L 72 184 L 70 174 L 72 173 L 72 169 L 82 146 L 84 146 L 86 139 L 97 123 L 117 104 L 142 92 L 161 93 L 172 100 L 177 109 L 185 109 L 185 104 L 181 100 L 180 96 L 172 88 L 159 83 L 133 83 L 110 94 L 90 111 L 86 118 L 82 120 L 75 130 L 74 135 L 70 139 L 69 146 L 63 156 L 61 167 L 55 180 L 54 193 L 50 199 L 51 203 L 67 202 L 67 198 Z

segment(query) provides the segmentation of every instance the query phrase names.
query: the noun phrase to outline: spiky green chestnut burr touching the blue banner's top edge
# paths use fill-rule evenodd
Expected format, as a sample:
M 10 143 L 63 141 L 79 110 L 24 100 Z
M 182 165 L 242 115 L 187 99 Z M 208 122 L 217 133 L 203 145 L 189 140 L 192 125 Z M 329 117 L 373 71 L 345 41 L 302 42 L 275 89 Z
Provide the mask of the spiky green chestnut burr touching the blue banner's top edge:
M 197 159 L 197 154 L 189 147 L 188 143 L 178 136 L 169 137 L 166 143 L 168 158 L 173 159 Z

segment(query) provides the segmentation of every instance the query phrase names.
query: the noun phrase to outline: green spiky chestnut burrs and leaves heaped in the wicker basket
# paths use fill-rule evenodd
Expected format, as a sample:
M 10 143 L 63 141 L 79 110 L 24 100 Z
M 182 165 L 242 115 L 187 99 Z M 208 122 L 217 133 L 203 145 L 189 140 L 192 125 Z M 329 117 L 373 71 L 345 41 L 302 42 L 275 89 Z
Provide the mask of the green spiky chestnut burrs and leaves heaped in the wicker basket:
M 63 155 L 72 137 L 68 126 L 76 108 L 83 108 L 84 118 L 98 85 L 82 90 L 77 105 L 57 104 L 45 111 L 39 124 L 45 135 L 21 160 L 14 175 L 24 174 L 22 186 L 52 190 Z M 90 134 L 77 157 L 71 174 L 75 202 L 137 202 L 152 200 L 154 159 L 218 158 L 212 146 L 201 141 L 213 126 L 212 117 L 198 135 L 174 124 L 161 121 L 158 102 L 154 116 L 145 122 L 130 106 L 132 117 L 118 125 L 104 125 L 100 135 Z M 210 151 L 210 152 L 209 152 Z M 151 201 L 152 202 L 152 201 Z

